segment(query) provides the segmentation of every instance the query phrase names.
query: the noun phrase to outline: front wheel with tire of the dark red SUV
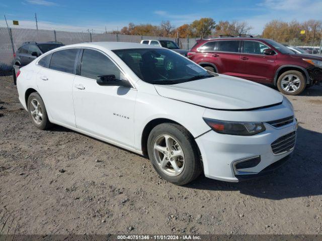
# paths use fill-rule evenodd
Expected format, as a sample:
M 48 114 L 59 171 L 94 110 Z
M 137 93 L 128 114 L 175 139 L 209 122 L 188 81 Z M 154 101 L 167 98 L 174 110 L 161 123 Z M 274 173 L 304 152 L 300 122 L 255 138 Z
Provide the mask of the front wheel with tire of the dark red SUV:
M 277 80 L 277 88 L 283 94 L 298 95 L 303 92 L 305 87 L 305 77 L 301 72 L 296 70 L 289 70 L 282 73 Z

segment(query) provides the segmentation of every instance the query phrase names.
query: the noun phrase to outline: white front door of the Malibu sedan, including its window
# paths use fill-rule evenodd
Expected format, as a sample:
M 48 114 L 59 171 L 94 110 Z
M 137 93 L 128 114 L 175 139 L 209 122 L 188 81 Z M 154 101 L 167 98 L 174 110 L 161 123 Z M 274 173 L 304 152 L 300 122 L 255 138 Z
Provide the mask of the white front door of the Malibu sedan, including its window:
M 98 76 L 109 74 L 114 74 L 117 79 L 126 79 L 103 52 L 84 49 L 78 65 L 79 71 L 77 68 L 72 87 L 76 127 L 109 142 L 133 147 L 137 91 L 120 86 L 102 86 L 96 82 Z

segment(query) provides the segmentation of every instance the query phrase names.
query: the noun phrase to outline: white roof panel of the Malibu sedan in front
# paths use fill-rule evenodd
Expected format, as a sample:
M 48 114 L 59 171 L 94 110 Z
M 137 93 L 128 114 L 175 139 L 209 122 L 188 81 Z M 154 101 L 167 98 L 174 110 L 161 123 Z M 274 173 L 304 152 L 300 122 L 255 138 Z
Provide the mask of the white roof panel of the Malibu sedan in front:
M 93 47 L 93 48 L 104 48 L 104 49 L 108 49 L 108 50 L 159 48 L 157 46 L 151 46 L 151 45 L 147 45 L 147 44 L 127 43 L 127 42 L 91 42 L 91 43 L 66 45 L 65 47 Z

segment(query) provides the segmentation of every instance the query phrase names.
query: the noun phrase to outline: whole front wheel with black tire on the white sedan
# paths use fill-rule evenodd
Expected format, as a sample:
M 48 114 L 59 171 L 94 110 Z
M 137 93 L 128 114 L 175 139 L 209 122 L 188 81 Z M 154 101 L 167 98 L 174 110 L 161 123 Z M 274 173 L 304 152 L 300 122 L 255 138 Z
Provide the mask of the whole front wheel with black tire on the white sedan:
M 166 145 L 166 139 L 169 145 Z M 155 145 L 158 146 L 158 150 L 154 148 Z M 167 151 L 167 147 L 170 147 L 170 150 Z M 155 171 L 168 182 L 185 185 L 196 179 L 202 172 L 200 156 L 194 139 L 180 125 L 164 123 L 154 127 L 148 136 L 147 148 Z M 160 148 L 162 148 L 161 151 Z M 182 155 L 180 156 L 179 153 Z M 163 165 L 162 160 L 166 165 Z

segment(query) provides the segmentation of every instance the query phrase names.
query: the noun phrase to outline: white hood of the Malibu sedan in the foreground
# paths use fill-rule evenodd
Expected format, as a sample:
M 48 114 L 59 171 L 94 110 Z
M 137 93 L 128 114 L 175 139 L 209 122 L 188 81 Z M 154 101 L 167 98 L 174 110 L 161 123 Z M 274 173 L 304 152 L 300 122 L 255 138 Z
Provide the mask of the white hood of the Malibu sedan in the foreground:
M 227 75 L 154 87 L 163 97 L 213 109 L 253 109 L 283 101 L 283 95 L 276 90 Z

